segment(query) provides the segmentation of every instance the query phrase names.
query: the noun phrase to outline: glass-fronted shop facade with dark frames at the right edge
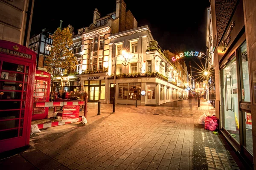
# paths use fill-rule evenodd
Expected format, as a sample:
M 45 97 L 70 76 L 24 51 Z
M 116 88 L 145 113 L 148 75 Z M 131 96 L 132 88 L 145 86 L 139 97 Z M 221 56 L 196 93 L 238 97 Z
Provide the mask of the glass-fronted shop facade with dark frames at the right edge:
M 215 113 L 220 132 L 251 169 L 256 157 L 256 1 L 211 0 Z

